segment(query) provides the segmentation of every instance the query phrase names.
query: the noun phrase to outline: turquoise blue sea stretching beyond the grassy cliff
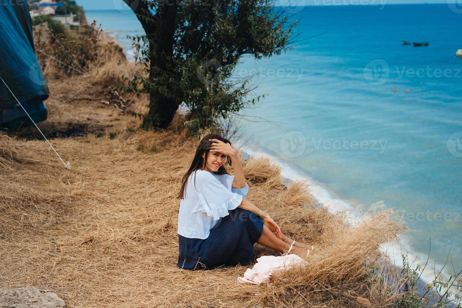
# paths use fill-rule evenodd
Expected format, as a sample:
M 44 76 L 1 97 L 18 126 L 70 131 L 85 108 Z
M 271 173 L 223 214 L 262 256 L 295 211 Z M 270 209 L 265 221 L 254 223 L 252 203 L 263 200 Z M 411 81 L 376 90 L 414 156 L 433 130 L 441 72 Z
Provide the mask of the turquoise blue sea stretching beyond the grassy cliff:
M 287 11 L 298 19 L 295 48 L 243 58 L 236 71 L 267 94 L 241 112 L 256 116 L 242 123 L 247 136 L 353 210 L 383 200 L 405 211 L 406 249 L 426 259 L 431 236 L 431 260 L 442 265 L 450 254 L 462 268 L 462 7 Z M 133 13 L 86 15 L 118 31 L 131 54 L 124 37 L 142 33 Z

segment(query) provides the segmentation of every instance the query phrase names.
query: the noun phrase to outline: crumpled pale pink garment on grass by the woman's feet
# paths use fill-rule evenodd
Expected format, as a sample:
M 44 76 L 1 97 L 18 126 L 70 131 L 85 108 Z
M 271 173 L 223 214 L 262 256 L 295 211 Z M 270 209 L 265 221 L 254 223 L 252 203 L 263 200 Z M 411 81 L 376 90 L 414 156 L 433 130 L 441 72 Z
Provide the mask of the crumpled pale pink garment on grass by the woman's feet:
M 261 284 L 270 282 L 271 273 L 288 269 L 292 264 L 297 262 L 305 262 L 296 254 L 287 254 L 285 256 L 261 256 L 257 259 L 257 263 L 252 269 L 248 268 L 244 273 L 244 277 L 238 277 L 240 283 Z

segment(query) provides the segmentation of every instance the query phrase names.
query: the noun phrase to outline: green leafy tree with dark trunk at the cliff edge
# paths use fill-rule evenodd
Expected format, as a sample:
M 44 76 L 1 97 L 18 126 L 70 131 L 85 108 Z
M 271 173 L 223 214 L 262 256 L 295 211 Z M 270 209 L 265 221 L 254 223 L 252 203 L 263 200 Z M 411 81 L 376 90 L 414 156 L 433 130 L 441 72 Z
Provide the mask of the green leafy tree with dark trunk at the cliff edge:
M 123 1 L 146 32 L 133 37 L 146 76 L 126 78 L 127 91 L 150 94 L 146 129 L 167 127 L 183 102 L 193 132 L 255 103 L 249 79 L 232 78 L 239 58 L 270 57 L 292 43 L 295 22 L 272 0 Z

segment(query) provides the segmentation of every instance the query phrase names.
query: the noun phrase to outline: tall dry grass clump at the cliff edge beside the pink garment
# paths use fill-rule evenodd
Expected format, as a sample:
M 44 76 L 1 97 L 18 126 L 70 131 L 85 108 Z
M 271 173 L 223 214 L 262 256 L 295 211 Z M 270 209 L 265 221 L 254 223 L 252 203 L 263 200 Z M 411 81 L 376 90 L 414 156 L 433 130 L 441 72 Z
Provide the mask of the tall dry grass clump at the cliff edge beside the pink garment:
M 328 307 L 350 307 L 362 296 L 373 307 L 386 306 L 392 296 L 371 289 L 374 285 L 365 273 L 380 266 L 377 261 L 383 256 L 377 248 L 396 241 L 397 234 L 406 230 L 393 217 L 393 211 L 377 211 L 377 205 L 372 205 L 361 221 L 331 226 L 317 250 L 306 258 L 305 266 L 274 275 L 264 299 L 279 307 L 306 307 L 307 303 L 313 307 L 325 303 Z

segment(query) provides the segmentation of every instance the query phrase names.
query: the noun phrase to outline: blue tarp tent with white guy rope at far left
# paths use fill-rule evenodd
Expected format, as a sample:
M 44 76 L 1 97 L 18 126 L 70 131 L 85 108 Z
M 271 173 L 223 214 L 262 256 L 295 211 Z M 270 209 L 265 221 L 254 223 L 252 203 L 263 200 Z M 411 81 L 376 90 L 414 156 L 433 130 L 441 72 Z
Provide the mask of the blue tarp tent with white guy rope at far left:
M 26 0 L 0 0 L 0 76 L 34 121 L 46 120 L 43 101 L 49 90 L 34 52 Z M 21 124 L 32 123 L 0 82 L 0 127 L 14 129 Z

